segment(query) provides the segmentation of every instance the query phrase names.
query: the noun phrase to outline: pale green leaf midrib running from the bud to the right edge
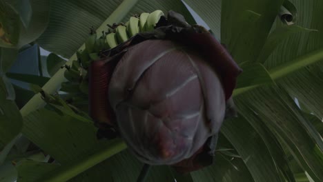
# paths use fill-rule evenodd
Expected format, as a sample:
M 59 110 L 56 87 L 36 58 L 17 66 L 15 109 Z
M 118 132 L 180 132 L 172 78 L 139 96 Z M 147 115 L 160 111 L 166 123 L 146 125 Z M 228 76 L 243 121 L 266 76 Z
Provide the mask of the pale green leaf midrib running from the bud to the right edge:
M 269 70 L 269 74 L 273 80 L 277 80 L 297 70 L 305 68 L 307 65 L 311 65 L 313 63 L 317 63 L 318 61 L 322 61 L 322 60 L 323 60 L 323 49 L 316 50 L 302 57 L 299 57 L 294 61 L 290 61 L 288 63 L 280 65 L 277 68 Z M 251 85 L 249 87 L 235 89 L 233 91 L 233 96 L 236 97 L 239 94 L 243 94 L 244 92 L 257 88 L 258 86 L 260 85 Z

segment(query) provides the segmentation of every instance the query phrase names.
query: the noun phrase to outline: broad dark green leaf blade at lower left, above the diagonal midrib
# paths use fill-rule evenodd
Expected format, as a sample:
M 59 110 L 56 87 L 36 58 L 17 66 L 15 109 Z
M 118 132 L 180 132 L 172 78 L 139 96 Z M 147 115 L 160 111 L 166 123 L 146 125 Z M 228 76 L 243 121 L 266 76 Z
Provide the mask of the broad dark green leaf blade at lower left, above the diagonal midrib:
M 22 133 L 62 165 L 97 148 L 92 123 L 41 109 L 24 118 Z

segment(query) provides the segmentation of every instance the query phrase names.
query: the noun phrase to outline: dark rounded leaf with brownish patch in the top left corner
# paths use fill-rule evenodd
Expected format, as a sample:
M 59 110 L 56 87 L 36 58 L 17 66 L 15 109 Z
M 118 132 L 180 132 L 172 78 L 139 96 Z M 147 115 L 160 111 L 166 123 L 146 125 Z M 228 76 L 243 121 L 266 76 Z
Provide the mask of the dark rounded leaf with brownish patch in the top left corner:
M 8 0 L 0 1 L 0 23 L 4 32 L 0 39 L 1 47 L 21 48 L 23 45 L 35 41 L 46 30 L 50 0 L 29 0 L 29 2 L 31 11 L 26 6 L 28 1 L 24 1 L 23 4 L 19 3 L 19 0 L 10 4 L 8 4 Z M 32 14 L 28 23 L 29 13 Z M 27 17 L 25 17 L 26 14 Z

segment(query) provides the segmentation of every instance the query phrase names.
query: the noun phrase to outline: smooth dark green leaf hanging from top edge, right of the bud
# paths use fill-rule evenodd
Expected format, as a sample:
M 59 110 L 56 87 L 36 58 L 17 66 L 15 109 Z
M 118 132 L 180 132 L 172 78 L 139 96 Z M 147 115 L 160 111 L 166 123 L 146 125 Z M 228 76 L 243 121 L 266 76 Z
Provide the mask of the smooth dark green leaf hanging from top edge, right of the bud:
M 255 61 L 284 0 L 222 2 L 221 41 L 238 63 Z

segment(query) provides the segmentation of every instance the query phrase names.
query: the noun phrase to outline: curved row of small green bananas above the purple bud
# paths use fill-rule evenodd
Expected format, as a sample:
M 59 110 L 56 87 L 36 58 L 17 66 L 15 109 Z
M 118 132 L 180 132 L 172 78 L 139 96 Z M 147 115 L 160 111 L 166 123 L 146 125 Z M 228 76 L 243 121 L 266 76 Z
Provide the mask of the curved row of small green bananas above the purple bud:
M 101 36 L 92 33 L 86 39 L 86 48 L 77 51 L 77 60 L 72 61 L 71 66 L 66 66 L 64 77 L 68 81 L 61 84 L 61 91 L 67 93 L 67 99 L 72 100 L 73 105 L 75 105 L 75 101 L 87 100 L 87 69 L 92 61 L 99 59 L 99 52 L 115 48 L 139 32 L 153 31 L 156 23 L 163 15 L 164 12 L 161 10 L 155 10 L 151 13 L 144 12 L 139 16 L 130 17 L 126 23 L 110 26 L 110 30 L 102 32 Z

